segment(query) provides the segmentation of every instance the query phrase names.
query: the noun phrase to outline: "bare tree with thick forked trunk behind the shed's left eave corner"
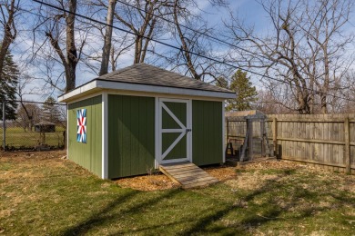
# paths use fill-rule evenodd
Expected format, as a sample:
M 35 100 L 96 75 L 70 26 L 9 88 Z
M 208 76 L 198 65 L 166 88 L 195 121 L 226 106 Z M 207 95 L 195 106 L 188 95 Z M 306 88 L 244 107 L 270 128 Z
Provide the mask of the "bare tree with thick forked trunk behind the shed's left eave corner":
M 35 5 L 33 10 L 37 12 L 27 61 L 35 65 L 35 76 L 42 74 L 46 85 L 65 93 L 76 87 L 76 66 L 90 30 L 86 21 L 76 16 L 77 9 L 86 12 L 86 8 L 77 5 L 76 0 L 56 0 Z

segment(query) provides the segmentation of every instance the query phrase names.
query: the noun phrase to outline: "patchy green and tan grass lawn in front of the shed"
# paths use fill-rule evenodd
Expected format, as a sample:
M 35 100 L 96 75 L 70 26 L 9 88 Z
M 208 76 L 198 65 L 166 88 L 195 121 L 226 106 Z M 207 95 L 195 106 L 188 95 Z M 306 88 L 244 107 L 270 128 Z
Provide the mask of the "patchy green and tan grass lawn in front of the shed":
M 270 164 L 204 189 L 140 192 L 64 152 L 0 153 L 0 234 L 353 235 L 355 176 Z

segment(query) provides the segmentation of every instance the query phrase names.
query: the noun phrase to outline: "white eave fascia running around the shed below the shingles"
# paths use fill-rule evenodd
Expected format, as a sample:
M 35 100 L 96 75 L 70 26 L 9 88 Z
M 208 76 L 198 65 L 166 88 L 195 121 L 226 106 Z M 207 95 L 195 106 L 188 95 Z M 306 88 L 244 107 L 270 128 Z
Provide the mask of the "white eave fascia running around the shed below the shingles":
M 88 93 L 93 93 L 98 90 L 117 90 L 117 91 L 130 91 L 130 92 L 142 92 L 142 93 L 161 93 L 161 94 L 177 94 L 185 96 L 200 96 L 211 97 L 219 99 L 231 99 L 236 98 L 236 93 L 224 93 L 217 91 L 206 91 L 189 88 L 177 88 L 168 86 L 158 86 L 150 84 L 130 84 L 113 81 L 101 81 L 94 80 L 88 84 L 80 86 L 75 90 L 63 94 L 58 97 L 59 102 L 68 102 L 76 98 L 82 97 Z

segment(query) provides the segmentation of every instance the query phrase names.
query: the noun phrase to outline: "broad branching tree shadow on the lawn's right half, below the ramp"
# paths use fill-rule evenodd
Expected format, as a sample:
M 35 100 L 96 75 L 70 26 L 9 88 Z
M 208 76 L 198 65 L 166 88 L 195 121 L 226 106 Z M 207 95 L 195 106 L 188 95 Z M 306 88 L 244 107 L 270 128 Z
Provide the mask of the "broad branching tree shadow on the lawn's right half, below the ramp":
M 251 206 L 248 209 L 243 208 L 243 206 L 238 205 L 225 205 L 221 210 L 215 211 L 208 216 L 199 218 L 198 221 L 195 219 L 190 219 L 190 221 L 196 221 L 189 229 L 181 232 L 181 235 L 189 235 L 193 233 L 223 233 L 223 235 L 235 235 L 235 234 L 249 234 L 251 233 L 250 228 L 258 228 L 263 224 L 266 224 L 270 221 L 295 221 L 304 219 L 307 217 L 313 217 L 315 211 L 327 211 L 329 207 L 318 207 L 314 204 L 309 204 L 309 206 L 302 208 L 298 211 L 298 214 L 295 216 L 290 216 L 288 218 L 281 217 L 282 213 L 292 212 L 293 208 L 298 204 L 300 199 L 305 199 L 310 201 L 313 199 L 314 192 L 309 190 L 304 190 L 299 192 L 294 192 L 290 199 L 289 203 L 280 204 L 278 199 L 278 192 L 274 192 L 277 188 L 281 188 L 284 183 L 282 179 L 287 177 L 291 172 L 283 172 L 278 178 L 266 181 L 258 190 L 250 192 L 248 195 L 242 197 L 242 201 L 251 202 L 255 198 L 263 194 L 272 194 L 272 198 L 269 197 L 269 201 L 265 201 L 259 206 Z M 296 189 L 300 189 L 300 186 L 295 186 Z M 208 211 L 208 210 L 207 210 Z M 210 211 L 210 210 L 209 210 Z M 263 215 L 259 213 L 262 211 Z M 221 221 L 223 217 L 227 216 L 229 213 L 235 215 L 243 214 L 242 219 L 236 217 L 236 221 L 232 225 L 218 225 L 217 221 Z M 223 222 L 221 221 L 220 224 Z

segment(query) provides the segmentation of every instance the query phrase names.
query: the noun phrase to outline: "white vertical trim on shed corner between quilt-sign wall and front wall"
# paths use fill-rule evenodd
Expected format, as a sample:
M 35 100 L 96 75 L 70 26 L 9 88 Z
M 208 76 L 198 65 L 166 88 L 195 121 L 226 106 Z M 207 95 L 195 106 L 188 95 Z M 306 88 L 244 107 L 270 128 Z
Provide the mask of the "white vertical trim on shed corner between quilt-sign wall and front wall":
M 101 175 L 102 179 L 108 179 L 108 130 L 107 130 L 107 122 L 108 122 L 108 96 L 107 93 L 102 93 L 102 170 Z

